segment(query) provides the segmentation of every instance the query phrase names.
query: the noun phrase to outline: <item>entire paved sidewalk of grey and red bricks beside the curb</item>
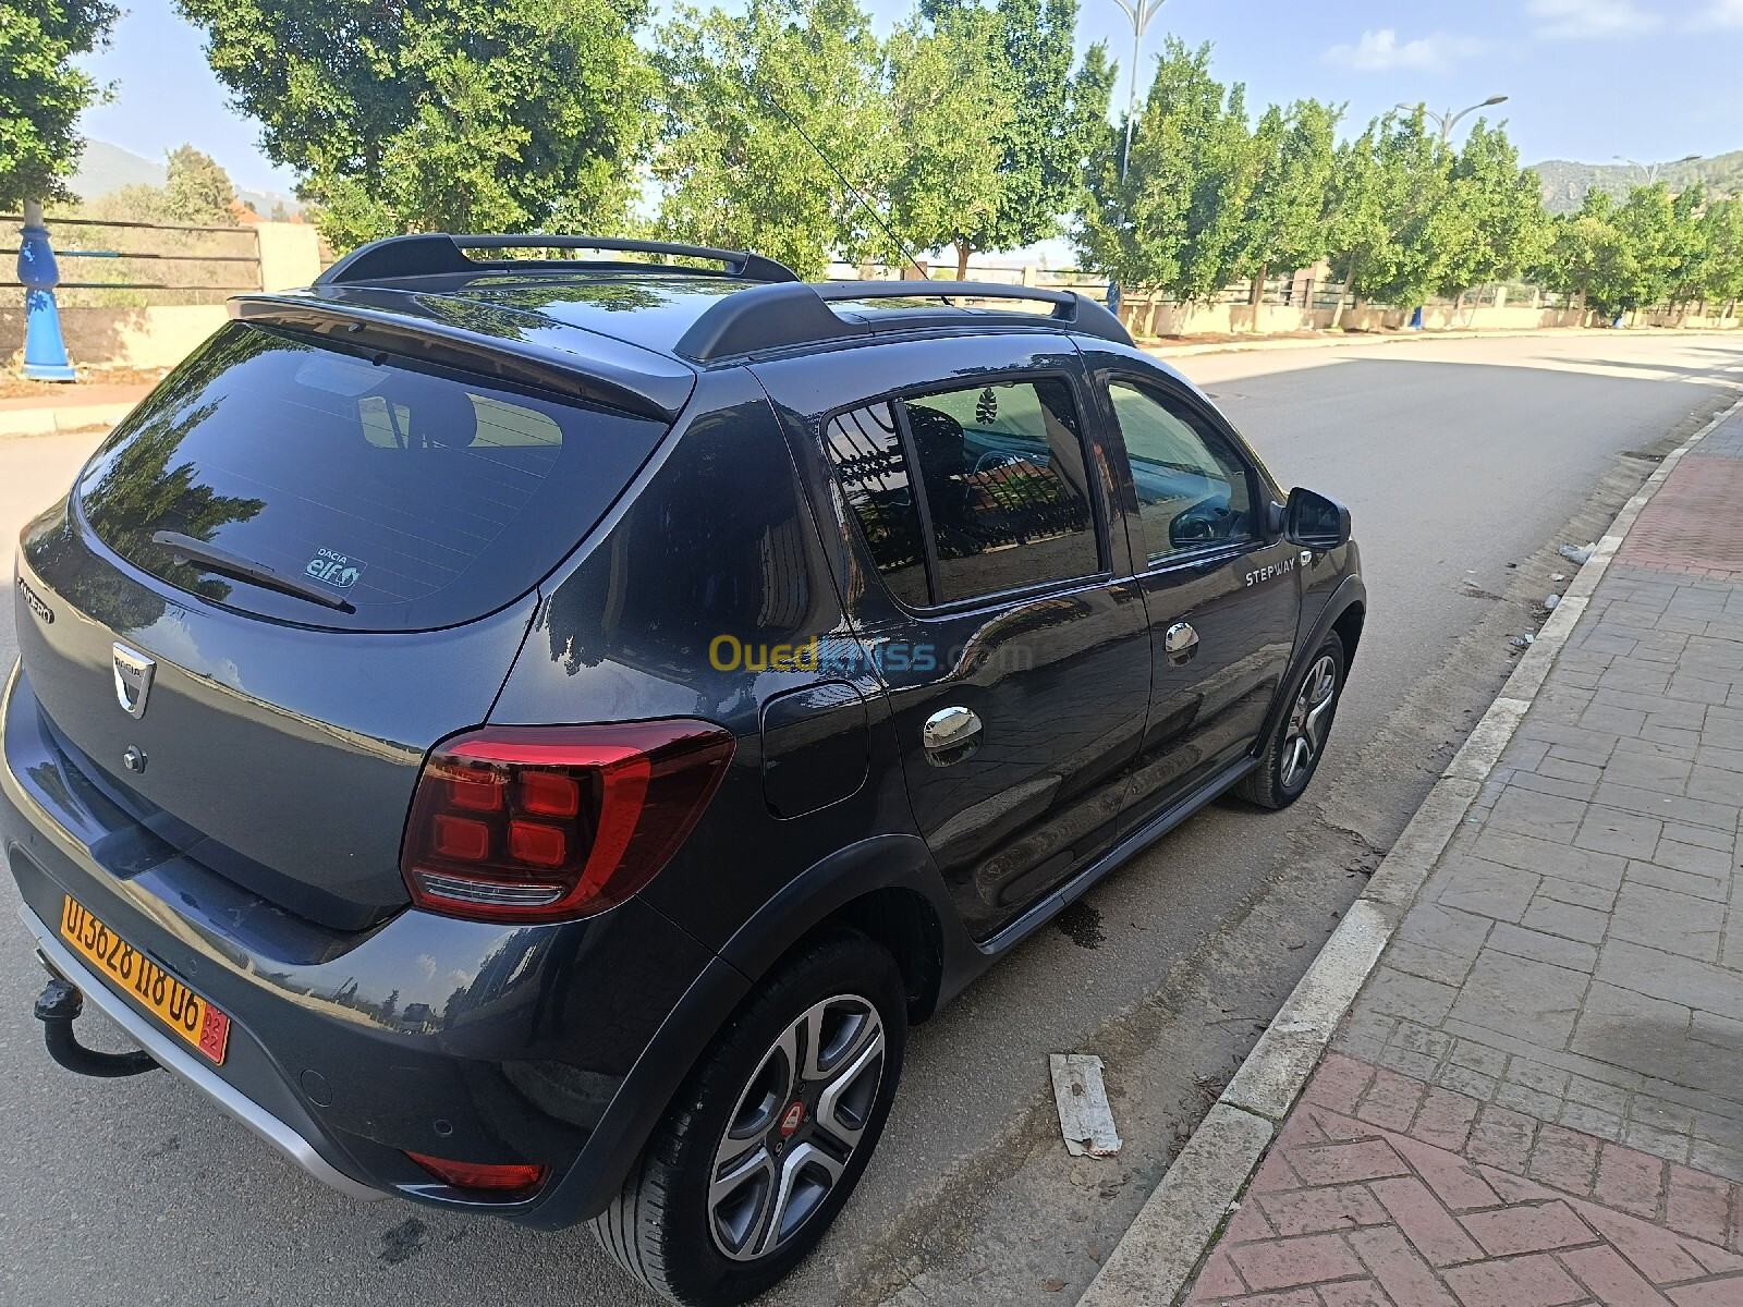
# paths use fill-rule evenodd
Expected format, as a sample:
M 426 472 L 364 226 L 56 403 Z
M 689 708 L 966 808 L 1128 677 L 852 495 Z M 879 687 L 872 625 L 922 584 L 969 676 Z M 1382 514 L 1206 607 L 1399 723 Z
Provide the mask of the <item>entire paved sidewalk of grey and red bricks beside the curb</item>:
M 1743 413 L 1640 512 L 1187 1302 L 1743 1307 L 1740 507 Z

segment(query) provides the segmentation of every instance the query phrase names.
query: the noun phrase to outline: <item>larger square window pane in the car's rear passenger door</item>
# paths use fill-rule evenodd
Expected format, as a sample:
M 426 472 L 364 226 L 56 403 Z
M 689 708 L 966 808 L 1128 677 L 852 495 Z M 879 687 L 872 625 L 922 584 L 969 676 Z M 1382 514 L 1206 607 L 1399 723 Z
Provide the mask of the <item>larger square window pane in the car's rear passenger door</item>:
M 1100 570 L 1077 410 L 1060 378 L 903 401 L 931 516 L 934 601 Z

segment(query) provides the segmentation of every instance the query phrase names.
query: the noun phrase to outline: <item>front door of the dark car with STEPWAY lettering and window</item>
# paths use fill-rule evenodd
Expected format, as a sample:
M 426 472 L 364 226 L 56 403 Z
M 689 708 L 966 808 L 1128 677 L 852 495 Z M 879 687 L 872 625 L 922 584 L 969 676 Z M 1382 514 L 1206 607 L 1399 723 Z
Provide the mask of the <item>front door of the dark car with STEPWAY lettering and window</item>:
M 1251 751 L 1288 667 L 1300 573 L 1295 545 L 1271 532 L 1276 488 L 1227 422 L 1187 387 L 1100 361 L 1156 652 L 1122 817 L 1135 830 Z

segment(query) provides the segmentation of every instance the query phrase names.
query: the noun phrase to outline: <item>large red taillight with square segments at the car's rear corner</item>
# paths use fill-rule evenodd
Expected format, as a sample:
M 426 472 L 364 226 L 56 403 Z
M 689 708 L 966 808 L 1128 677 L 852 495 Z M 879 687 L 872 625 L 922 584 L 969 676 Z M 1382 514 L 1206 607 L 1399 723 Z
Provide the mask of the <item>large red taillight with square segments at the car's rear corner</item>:
M 424 763 L 401 852 L 411 901 L 492 922 L 605 911 L 641 889 L 732 760 L 708 721 L 485 727 Z

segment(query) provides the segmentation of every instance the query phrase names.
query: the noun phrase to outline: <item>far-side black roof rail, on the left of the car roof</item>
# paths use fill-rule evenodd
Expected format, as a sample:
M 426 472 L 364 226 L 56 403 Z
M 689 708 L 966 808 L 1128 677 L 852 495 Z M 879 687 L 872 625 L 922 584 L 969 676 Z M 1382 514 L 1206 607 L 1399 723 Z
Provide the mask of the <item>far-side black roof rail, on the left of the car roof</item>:
M 444 272 L 575 272 L 577 268 L 589 267 L 575 260 L 479 260 L 469 258 L 465 254 L 467 249 L 603 249 L 636 254 L 676 254 L 680 258 L 704 258 L 725 263 L 729 277 L 758 282 L 798 281 L 798 274 L 784 263 L 776 263 L 772 258 L 751 254 L 744 249 L 678 246 L 664 240 L 624 240 L 607 235 L 450 235 L 446 232 L 427 232 L 418 235 L 390 235 L 383 240 L 357 246 L 322 272 L 315 279 L 315 286 L 357 286 L 392 277 L 427 277 Z M 601 265 L 594 263 L 591 267 Z M 605 263 L 605 267 L 643 270 L 648 265 L 614 260 Z M 701 268 L 678 265 L 662 265 L 662 270 L 701 272 Z

